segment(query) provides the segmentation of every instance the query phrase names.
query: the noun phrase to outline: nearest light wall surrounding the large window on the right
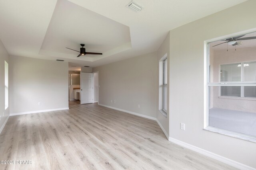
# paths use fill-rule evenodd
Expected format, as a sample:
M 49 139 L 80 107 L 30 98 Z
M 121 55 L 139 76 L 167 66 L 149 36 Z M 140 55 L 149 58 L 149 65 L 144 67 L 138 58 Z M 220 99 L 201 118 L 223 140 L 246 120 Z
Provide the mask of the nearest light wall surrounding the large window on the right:
M 255 143 L 203 128 L 204 41 L 255 28 L 255 6 L 249 0 L 170 31 L 169 106 L 170 137 L 254 168 Z

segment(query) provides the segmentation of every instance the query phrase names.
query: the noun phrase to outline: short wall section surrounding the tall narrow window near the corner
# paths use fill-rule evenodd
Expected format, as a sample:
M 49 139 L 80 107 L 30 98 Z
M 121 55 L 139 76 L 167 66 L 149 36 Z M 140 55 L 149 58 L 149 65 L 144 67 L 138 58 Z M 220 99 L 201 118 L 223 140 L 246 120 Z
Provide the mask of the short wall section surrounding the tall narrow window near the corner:
M 159 61 L 160 59 L 167 54 L 167 60 L 170 60 L 170 33 L 168 33 L 168 35 L 166 36 L 166 39 L 164 40 L 164 42 L 162 43 L 162 45 L 159 47 L 158 51 L 157 51 L 157 58 L 158 61 L 156 63 L 157 65 L 157 82 L 159 82 L 159 74 L 162 74 L 162 72 L 159 72 Z M 169 63 L 169 62 L 168 62 Z M 167 76 L 169 76 L 169 66 L 170 64 L 167 64 L 167 70 L 168 70 L 168 74 Z M 167 80 L 167 84 L 169 84 L 169 78 Z M 157 100 L 159 100 L 159 98 L 161 98 L 160 96 L 160 91 L 159 91 L 159 83 L 158 86 L 156 88 L 157 91 Z M 161 91 L 162 92 L 162 91 Z M 157 108 L 156 108 L 156 118 L 158 119 L 159 123 L 162 125 L 164 131 L 166 132 L 167 135 L 169 135 L 169 86 L 167 89 L 167 117 L 165 117 L 160 111 L 159 111 L 159 102 L 157 101 Z

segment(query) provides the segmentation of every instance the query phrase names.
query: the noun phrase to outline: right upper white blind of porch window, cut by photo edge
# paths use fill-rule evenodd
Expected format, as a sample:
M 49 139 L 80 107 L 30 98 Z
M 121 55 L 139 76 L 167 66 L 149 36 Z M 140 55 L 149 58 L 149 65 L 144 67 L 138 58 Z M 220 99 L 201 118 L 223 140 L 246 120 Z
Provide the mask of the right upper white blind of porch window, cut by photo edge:
M 244 82 L 256 81 L 256 62 L 244 63 Z

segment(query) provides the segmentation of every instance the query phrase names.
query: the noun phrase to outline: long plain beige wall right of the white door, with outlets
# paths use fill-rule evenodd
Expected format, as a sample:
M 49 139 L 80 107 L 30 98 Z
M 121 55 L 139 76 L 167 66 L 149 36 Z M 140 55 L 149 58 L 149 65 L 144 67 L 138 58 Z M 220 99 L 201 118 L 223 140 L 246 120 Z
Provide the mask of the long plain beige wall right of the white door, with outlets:
M 99 104 L 155 118 L 156 63 L 157 53 L 150 53 L 93 68 L 93 72 L 99 71 Z

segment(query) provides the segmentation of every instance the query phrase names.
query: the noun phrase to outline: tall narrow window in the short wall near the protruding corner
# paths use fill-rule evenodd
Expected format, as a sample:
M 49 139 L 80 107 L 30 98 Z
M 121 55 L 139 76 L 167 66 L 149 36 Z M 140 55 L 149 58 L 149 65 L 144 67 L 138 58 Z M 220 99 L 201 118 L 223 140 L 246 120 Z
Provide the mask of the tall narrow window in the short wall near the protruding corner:
M 163 61 L 163 111 L 167 112 L 167 59 Z

